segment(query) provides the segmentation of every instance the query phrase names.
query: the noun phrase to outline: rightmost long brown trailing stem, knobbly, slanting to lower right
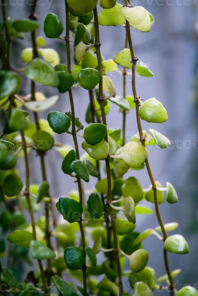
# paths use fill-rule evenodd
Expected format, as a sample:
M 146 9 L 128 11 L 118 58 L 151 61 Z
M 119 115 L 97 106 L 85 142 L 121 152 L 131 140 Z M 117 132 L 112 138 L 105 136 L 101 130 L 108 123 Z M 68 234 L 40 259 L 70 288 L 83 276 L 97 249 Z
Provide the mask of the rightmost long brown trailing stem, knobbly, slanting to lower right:
M 124 0 L 125 6 L 128 5 L 127 0 Z M 142 143 L 142 145 L 145 146 L 145 137 L 142 131 L 142 126 L 141 126 L 141 121 L 140 121 L 140 116 L 139 116 L 139 97 L 137 96 L 137 92 L 136 92 L 136 85 L 135 85 L 135 66 L 137 63 L 137 57 L 134 54 L 134 49 L 133 49 L 133 44 L 132 44 L 132 39 L 131 39 L 131 34 L 130 34 L 130 25 L 129 22 L 126 21 L 126 26 L 127 26 L 127 36 L 128 36 L 128 43 L 129 43 L 129 48 L 130 48 L 130 53 L 131 53 L 131 58 L 132 58 L 132 64 L 133 64 L 133 69 L 132 69 L 132 90 L 133 90 L 133 95 L 134 95 L 134 102 L 136 103 L 136 118 L 137 118 L 137 127 L 138 127 L 138 131 L 140 134 L 140 142 Z M 157 186 L 155 183 L 155 180 L 153 178 L 153 173 L 151 171 L 150 168 L 150 164 L 149 164 L 149 160 L 146 159 L 146 167 L 147 167 L 147 172 L 152 184 L 152 189 L 153 189 L 153 194 L 154 194 L 154 203 L 155 203 L 155 211 L 156 211 L 156 215 L 157 215 L 157 219 L 159 221 L 162 233 L 163 233 L 163 240 L 165 241 L 168 237 L 167 232 L 165 230 L 165 227 L 163 225 L 163 221 L 160 215 L 160 210 L 159 210 L 159 205 L 158 205 L 158 201 L 157 201 Z M 166 271 L 167 271 L 167 275 L 169 278 L 169 282 L 170 282 L 170 295 L 173 296 L 174 295 L 174 282 L 173 282 L 173 278 L 170 272 L 170 268 L 169 268 L 169 264 L 168 264 L 168 259 L 167 259 L 167 251 L 164 249 L 163 251 L 164 253 L 164 263 L 165 263 L 165 267 L 166 267 Z

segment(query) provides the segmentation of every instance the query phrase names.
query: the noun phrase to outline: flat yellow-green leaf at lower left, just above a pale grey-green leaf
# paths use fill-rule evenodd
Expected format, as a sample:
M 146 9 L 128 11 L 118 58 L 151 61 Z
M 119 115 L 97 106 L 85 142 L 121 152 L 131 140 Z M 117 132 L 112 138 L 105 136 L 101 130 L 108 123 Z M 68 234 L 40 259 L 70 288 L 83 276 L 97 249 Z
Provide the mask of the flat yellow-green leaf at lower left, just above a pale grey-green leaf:
M 7 240 L 15 245 L 29 248 L 33 235 L 27 230 L 15 230 L 8 235 Z

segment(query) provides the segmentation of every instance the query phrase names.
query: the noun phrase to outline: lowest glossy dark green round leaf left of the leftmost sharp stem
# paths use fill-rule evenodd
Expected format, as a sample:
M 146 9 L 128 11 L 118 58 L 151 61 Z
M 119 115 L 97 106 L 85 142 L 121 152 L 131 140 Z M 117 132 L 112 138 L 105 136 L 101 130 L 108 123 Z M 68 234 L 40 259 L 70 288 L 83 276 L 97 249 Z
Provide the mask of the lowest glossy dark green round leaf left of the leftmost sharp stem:
M 85 264 L 85 258 L 81 249 L 77 247 L 68 247 L 64 250 L 64 260 L 68 269 L 82 269 Z

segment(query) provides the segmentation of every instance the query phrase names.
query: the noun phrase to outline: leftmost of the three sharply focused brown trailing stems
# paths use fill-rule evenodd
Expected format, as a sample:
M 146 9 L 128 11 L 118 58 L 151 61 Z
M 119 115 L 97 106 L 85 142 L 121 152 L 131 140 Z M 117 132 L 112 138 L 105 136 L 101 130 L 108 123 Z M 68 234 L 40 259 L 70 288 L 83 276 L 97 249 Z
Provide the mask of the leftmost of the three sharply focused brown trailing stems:
M 65 13 L 66 13 L 66 35 L 65 35 L 65 44 L 66 44 L 66 50 L 67 50 L 67 66 L 68 66 L 68 72 L 71 72 L 71 54 L 70 54 L 70 37 L 69 37 L 69 7 L 67 2 L 65 1 Z M 76 150 L 76 155 L 77 158 L 80 159 L 79 155 L 79 149 L 78 149 L 78 141 L 77 141 L 77 135 L 76 135 L 76 126 L 75 126 L 75 110 L 74 110 L 74 99 L 72 95 L 72 90 L 71 88 L 68 90 L 69 93 L 69 100 L 70 100 L 70 106 L 71 106 L 71 123 L 72 123 L 72 136 L 73 136 L 73 141 L 74 141 L 74 146 Z M 81 185 L 81 179 L 76 176 L 77 179 L 77 184 L 78 184 L 78 192 L 79 192 L 79 202 L 81 206 L 83 206 L 83 190 L 82 190 L 82 185 Z M 83 255 L 86 258 L 86 253 L 85 253 L 85 237 L 84 237 L 84 229 L 82 225 L 82 219 L 79 222 L 79 227 L 81 231 L 81 240 L 82 240 L 82 249 L 83 249 Z M 83 290 L 84 290 L 84 296 L 87 295 L 87 278 L 86 278 L 86 263 L 83 265 L 82 268 L 82 274 L 83 274 Z

